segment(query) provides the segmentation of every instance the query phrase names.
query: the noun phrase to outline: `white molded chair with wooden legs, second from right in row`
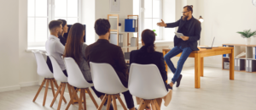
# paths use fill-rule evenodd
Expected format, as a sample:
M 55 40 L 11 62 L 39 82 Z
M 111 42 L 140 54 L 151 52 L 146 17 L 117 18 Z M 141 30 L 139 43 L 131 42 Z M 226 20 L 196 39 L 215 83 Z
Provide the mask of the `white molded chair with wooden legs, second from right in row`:
M 108 63 L 92 63 L 90 62 L 90 72 L 93 80 L 94 87 L 97 91 L 105 93 L 103 101 L 98 108 L 102 109 L 103 104 L 108 99 L 107 110 L 110 107 L 110 103 L 113 100 L 113 109 L 117 110 L 116 97 L 118 98 L 122 107 L 127 110 L 124 102 L 119 97 L 120 92 L 128 91 L 127 88 L 121 83 L 118 75 L 113 67 Z

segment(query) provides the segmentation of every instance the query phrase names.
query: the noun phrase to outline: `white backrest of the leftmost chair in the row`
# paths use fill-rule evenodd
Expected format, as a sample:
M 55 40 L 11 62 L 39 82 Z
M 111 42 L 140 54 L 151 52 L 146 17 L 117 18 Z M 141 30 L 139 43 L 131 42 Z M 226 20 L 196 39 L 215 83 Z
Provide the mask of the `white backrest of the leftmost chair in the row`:
M 32 51 L 35 55 L 38 64 L 38 74 L 44 76 L 45 78 L 53 78 L 53 74 L 49 70 L 49 67 L 44 59 L 42 52 Z

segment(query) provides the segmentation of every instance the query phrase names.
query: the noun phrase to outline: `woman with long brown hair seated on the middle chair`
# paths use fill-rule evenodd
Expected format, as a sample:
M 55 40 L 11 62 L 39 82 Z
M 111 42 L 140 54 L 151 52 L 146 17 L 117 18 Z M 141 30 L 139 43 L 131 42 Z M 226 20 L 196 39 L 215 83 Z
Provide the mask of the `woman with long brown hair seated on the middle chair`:
M 75 62 L 78 63 L 79 68 L 84 75 L 84 79 L 87 80 L 87 82 L 92 83 L 90 68 L 85 60 L 85 48 L 87 47 L 87 45 L 83 41 L 84 34 L 84 25 L 76 23 L 71 27 L 67 36 L 67 44 L 63 57 L 73 58 Z M 93 86 L 91 87 L 91 89 L 96 93 L 96 96 L 98 97 L 103 97 L 105 95 L 99 91 L 96 91 Z

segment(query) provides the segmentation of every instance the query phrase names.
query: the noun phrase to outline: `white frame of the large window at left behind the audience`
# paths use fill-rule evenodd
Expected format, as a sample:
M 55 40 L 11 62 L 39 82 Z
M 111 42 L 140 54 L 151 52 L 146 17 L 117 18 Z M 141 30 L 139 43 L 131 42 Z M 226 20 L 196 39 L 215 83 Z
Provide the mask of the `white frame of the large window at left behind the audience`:
M 36 1 L 36 0 L 34 0 Z M 28 4 L 28 1 L 27 1 Z M 55 19 L 55 0 L 47 0 L 47 16 L 36 16 L 36 2 L 34 2 L 34 16 L 28 16 L 27 14 L 27 24 L 28 24 L 28 19 L 32 18 L 34 19 L 34 41 L 29 41 L 28 38 L 28 25 L 26 27 L 27 30 L 27 47 L 45 47 L 45 41 L 36 41 L 36 18 L 47 18 L 47 25 L 51 20 Z M 27 11 L 28 13 L 28 8 Z M 78 17 L 62 17 L 62 18 L 78 18 L 78 22 L 82 22 L 82 0 L 78 0 Z M 48 30 L 48 26 L 47 26 Z M 47 39 L 49 37 L 49 30 L 47 31 Z

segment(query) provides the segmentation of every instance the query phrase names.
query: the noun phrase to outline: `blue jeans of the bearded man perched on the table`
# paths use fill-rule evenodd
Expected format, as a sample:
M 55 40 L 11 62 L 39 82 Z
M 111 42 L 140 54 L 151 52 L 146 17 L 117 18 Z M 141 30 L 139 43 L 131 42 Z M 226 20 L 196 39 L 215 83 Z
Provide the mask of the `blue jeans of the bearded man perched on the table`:
M 171 61 L 171 58 L 177 56 L 177 54 L 179 54 L 180 52 L 183 52 L 183 53 L 177 62 L 177 69 L 175 69 L 175 67 Z M 187 58 L 189 58 L 189 54 L 191 52 L 192 52 L 192 49 L 190 47 L 184 47 L 184 48 L 173 47 L 172 50 L 165 55 L 166 63 L 168 65 L 168 67 L 172 70 L 172 73 L 174 74 L 174 76 L 172 78 L 173 84 L 175 84 L 175 82 L 177 81 L 177 79 L 183 69 L 183 64 L 185 63 Z

